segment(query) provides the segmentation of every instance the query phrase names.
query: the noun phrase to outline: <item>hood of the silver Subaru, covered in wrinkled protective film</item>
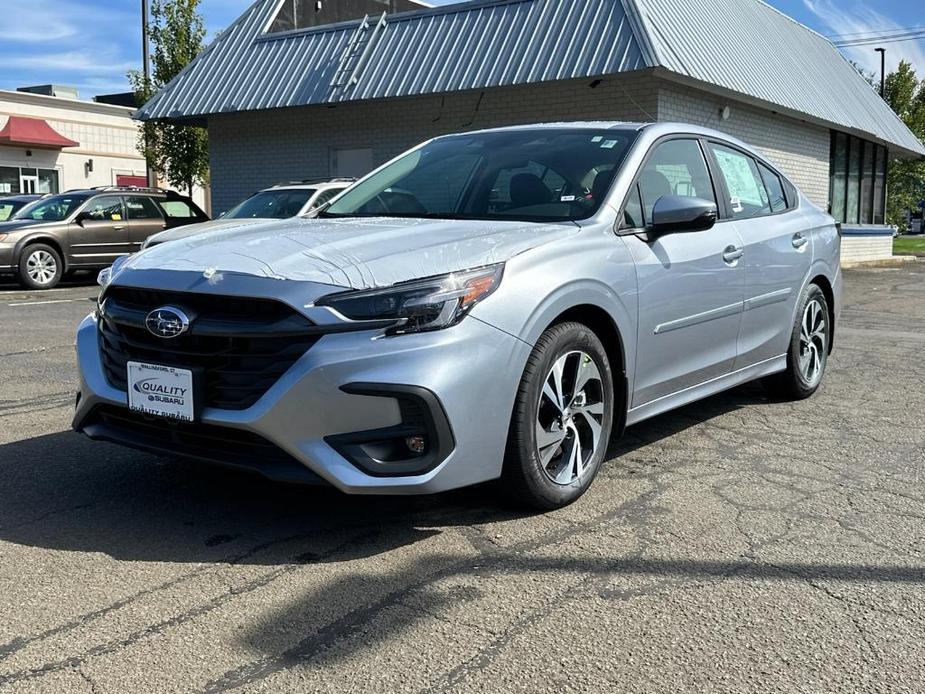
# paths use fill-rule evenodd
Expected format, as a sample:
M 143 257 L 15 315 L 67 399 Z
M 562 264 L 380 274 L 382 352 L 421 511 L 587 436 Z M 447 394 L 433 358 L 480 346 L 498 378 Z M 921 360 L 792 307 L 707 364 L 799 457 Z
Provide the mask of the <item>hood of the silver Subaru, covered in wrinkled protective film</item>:
M 238 273 L 372 289 L 504 262 L 573 223 L 296 218 L 216 229 L 132 256 L 132 270 Z

